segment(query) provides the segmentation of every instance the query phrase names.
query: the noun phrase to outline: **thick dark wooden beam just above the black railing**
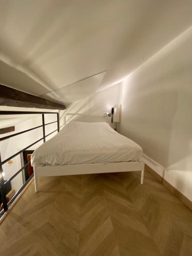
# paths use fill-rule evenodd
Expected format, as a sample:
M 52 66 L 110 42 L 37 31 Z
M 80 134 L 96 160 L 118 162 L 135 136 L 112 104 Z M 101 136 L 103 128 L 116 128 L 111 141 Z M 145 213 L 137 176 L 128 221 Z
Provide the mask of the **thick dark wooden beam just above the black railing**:
M 64 104 L 46 100 L 29 93 L 24 93 L 0 84 L 0 105 L 22 108 L 65 110 Z

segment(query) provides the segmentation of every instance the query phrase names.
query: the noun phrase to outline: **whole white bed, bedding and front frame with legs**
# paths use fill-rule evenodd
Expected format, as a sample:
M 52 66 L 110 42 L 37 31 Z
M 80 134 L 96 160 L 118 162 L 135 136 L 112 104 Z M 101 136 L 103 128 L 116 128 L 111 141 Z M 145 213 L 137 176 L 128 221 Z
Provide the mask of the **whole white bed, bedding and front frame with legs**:
M 109 123 L 72 121 L 32 154 L 35 192 L 42 176 L 140 171 L 143 184 L 141 158 L 142 148 Z

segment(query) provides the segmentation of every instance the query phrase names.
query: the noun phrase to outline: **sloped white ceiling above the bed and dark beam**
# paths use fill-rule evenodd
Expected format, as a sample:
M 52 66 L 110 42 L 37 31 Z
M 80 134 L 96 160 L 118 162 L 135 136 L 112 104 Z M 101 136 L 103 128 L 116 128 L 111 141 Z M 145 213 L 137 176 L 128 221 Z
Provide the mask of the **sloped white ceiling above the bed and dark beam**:
M 133 72 L 191 26 L 191 10 L 191 0 L 1 1 L 0 82 L 69 104 Z

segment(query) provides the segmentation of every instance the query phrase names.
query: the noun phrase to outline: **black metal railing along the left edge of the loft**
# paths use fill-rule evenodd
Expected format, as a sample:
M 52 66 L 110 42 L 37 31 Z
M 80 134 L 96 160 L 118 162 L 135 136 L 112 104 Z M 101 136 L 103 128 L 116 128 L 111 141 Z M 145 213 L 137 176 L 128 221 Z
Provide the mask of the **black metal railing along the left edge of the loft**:
M 11 182 L 12 179 L 14 179 L 20 172 L 22 172 L 23 169 L 25 169 L 25 167 L 27 167 L 31 161 L 28 161 L 22 168 L 20 168 L 18 170 L 18 172 L 16 172 L 11 178 L 9 178 L 6 182 L 4 181 L 4 172 L 3 172 L 3 165 L 5 163 L 7 163 L 9 160 L 11 160 L 12 158 L 18 156 L 19 154 L 23 153 L 25 150 L 27 150 L 29 147 L 33 146 L 34 144 L 36 144 L 37 142 L 43 140 L 44 142 L 46 142 L 46 137 L 48 137 L 49 135 L 51 135 L 54 132 L 59 132 L 59 114 L 57 112 L 33 112 L 33 111 L 0 111 L 0 115 L 29 115 L 29 114 L 41 114 L 42 115 L 42 124 L 38 125 L 36 127 L 33 127 L 31 129 L 19 132 L 19 133 L 15 133 L 15 134 L 11 134 L 8 136 L 4 136 L 2 138 L 0 138 L 0 141 L 2 140 L 6 140 L 9 139 L 11 137 L 23 134 L 23 133 L 27 133 L 30 132 L 32 130 L 38 129 L 40 127 L 42 127 L 42 138 L 38 139 L 37 141 L 33 142 L 31 145 L 28 145 L 27 147 L 25 147 L 23 150 L 15 153 L 14 155 L 8 157 L 7 159 L 3 160 L 1 159 L 1 152 L 0 152 L 0 192 L 1 192 L 1 198 L 2 198 L 2 202 L 3 202 L 3 209 L 0 212 L 0 218 L 4 215 L 4 213 L 8 210 L 8 208 L 10 207 L 10 205 L 12 204 L 12 202 L 15 200 L 15 198 L 20 194 L 20 192 L 25 188 L 25 186 L 29 183 L 29 181 L 33 178 L 33 175 L 31 175 L 29 177 L 29 179 L 27 179 L 27 181 L 23 184 L 23 186 L 17 191 L 17 193 L 11 198 L 11 200 L 7 203 L 7 199 L 6 199 L 6 190 L 5 190 L 5 185 L 9 182 Z M 45 123 L 45 114 L 55 114 L 57 115 L 57 121 L 54 122 L 50 122 L 50 123 Z M 52 123 L 57 123 L 57 129 L 54 130 L 53 132 L 49 133 L 46 135 L 45 132 L 45 126 L 52 124 Z

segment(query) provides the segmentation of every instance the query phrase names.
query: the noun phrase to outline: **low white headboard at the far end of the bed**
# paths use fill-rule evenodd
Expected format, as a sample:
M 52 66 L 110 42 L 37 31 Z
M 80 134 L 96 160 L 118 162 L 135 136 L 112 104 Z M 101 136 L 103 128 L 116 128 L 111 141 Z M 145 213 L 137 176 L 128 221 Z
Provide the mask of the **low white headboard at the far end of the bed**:
M 81 114 L 81 113 L 66 113 L 64 115 L 64 124 L 71 121 L 79 122 L 110 122 L 110 118 L 106 114 Z

